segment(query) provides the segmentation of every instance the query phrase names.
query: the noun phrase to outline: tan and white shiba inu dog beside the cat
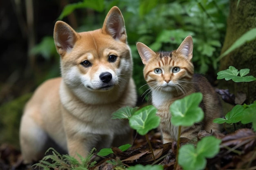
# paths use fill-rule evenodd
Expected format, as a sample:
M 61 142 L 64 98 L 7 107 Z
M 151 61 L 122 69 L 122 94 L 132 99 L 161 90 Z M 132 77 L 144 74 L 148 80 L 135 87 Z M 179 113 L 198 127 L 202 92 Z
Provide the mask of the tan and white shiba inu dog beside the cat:
M 137 100 L 118 7 L 94 31 L 77 33 L 57 21 L 54 41 L 62 77 L 39 86 L 25 106 L 20 125 L 24 163 L 40 160 L 53 143 L 77 158 L 76 153 L 86 157 L 94 147 L 99 151 L 132 142 L 128 121 L 111 119 L 114 111 L 134 107 Z

